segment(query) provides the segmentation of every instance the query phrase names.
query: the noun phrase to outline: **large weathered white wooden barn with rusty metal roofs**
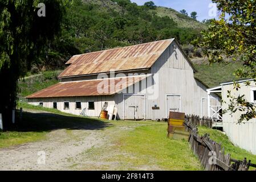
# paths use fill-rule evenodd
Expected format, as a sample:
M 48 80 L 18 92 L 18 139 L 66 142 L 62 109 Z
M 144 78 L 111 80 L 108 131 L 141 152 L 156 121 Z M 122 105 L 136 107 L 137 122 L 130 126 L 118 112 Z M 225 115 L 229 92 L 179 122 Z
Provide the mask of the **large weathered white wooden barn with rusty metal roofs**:
M 208 100 L 221 102 L 194 78 L 175 39 L 75 55 L 66 65 L 60 82 L 27 96 L 29 104 L 98 117 L 107 102 L 117 119 L 155 120 L 169 111 L 208 116 Z

